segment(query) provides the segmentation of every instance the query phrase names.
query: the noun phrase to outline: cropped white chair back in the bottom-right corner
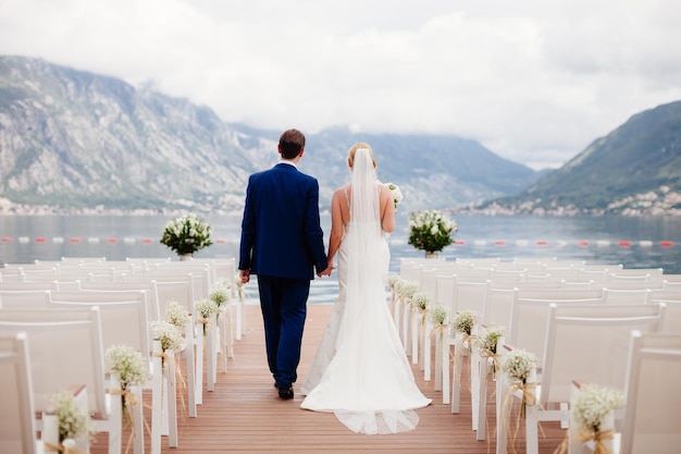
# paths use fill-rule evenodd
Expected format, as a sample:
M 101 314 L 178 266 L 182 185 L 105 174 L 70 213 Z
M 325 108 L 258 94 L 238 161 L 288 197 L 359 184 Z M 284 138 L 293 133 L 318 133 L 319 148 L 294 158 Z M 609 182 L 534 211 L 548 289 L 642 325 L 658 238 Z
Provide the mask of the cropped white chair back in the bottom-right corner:
M 619 453 L 678 453 L 681 446 L 681 335 L 632 332 L 626 377 Z

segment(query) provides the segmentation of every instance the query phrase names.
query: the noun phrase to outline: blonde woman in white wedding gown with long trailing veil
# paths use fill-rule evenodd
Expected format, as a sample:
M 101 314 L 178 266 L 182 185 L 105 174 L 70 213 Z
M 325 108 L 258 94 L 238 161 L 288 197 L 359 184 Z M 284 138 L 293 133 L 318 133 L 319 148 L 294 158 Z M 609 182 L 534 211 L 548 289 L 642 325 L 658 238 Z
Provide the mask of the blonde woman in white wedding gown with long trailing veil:
M 386 300 L 393 196 L 376 179 L 369 145 L 354 145 L 348 165 L 351 183 L 332 198 L 329 242 L 329 270 L 338 255 L 339 293 L 300 406 L 333 412 L 355 432 L 404 432 L 419 421 L 413 409 L 431 400 L 413 380 Z

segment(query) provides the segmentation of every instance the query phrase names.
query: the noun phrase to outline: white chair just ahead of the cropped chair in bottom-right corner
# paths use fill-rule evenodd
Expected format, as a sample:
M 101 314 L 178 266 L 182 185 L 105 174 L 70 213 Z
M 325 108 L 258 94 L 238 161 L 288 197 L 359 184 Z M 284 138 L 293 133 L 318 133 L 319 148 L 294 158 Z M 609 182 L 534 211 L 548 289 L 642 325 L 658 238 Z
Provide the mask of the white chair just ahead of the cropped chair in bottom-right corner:
M 569 420 L 573 380 L 623 389 L 631 330 L 659 332 L 664 315 L 663 304 L 550 305 L 536 403 L 527 406 L 528 454 L 538 453 L 540 421 Z

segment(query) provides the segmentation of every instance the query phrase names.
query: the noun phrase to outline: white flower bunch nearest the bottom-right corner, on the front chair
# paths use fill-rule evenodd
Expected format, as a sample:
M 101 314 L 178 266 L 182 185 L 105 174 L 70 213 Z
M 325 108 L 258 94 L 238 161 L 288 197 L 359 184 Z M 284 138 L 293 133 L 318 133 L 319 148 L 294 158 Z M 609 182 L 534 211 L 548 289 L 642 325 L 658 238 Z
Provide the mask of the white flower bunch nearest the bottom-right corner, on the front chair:
M 570 413 L 580 427 L 593 432 L 602 430 L 605 416 L 624 405 L 623 394 L 615 389 L 595 384 L 583 385 L 570 405 Z

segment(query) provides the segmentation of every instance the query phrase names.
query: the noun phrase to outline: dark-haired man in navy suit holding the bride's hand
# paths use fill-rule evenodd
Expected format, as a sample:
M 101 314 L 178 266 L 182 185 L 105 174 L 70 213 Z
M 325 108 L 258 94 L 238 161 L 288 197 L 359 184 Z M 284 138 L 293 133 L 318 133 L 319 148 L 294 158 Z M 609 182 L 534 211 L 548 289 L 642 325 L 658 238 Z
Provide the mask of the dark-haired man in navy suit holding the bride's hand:
M 281 398 L 293 398 L 310 281 L 327 274 L 319 183 L 298 171 L 305 135 L 280 137 L 281 162 L 250 175 L 242 221 L 239 277 L 258 274 L 268 364 Z

